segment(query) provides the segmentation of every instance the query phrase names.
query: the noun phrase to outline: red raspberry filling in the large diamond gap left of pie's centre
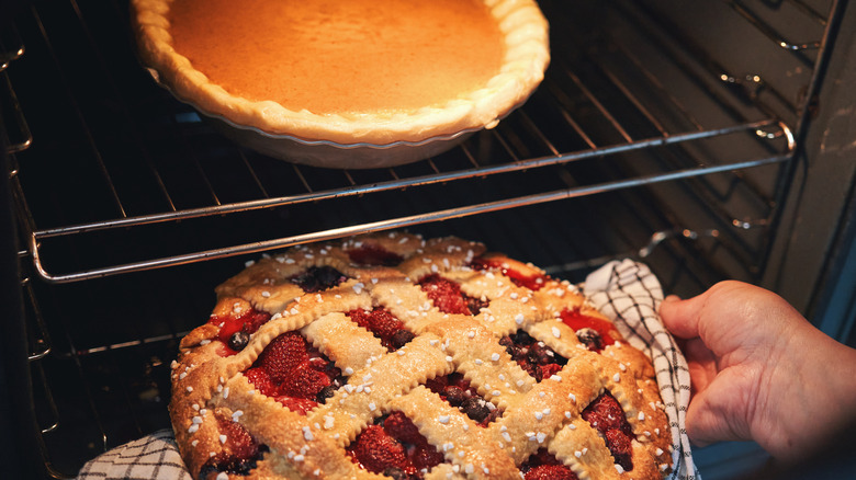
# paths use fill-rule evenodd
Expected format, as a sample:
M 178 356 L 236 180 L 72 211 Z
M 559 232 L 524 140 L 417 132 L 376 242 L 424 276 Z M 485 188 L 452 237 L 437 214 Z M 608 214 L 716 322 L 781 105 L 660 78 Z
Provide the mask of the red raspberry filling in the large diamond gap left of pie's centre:
M 273 339 L 244 375 L 260 393 L 304 414 L 345 384 L 341 370 L 297 332 Z

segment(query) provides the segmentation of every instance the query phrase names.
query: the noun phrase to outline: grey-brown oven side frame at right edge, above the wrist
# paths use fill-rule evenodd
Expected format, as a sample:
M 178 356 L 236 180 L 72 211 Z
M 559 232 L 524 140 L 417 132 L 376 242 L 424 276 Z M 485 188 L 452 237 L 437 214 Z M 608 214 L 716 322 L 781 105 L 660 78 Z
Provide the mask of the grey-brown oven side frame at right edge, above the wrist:
M 854 188 L 856 188 L 856 8 L 848 5 L 832 49 L 823 88 L 816 100 L 798 157 L 791 191 L 782 205 L 781 224 L 762 285 L 779 293 L 834 335 L 843 335 L 847 318 L 830 301 L 852 283 L 855 270 L 844 270 L 853 255 Z M 853 294 L 853 287 L 847 287 Z M 846 289 L 846 288 L 845 288 Z M 845 309 L 846 310 L 846 309 Z M 837 324 L 835 324 L 837 323 Z M 842 336 L 838 336 L 842 338 Z

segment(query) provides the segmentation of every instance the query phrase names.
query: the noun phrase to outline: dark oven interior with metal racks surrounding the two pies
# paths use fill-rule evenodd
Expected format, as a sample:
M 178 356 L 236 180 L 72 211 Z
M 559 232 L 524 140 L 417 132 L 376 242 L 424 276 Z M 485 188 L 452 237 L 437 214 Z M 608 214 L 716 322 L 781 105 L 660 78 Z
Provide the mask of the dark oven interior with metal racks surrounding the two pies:
M 370 170 L 244 149 L 153 82 L 125 0 L 4 4 L 3 462 L 69 478 L 169 427 L 169 364 L 264 252 L 455 235 L 582 282 L 735 278 L 854 343 L 856 11 L 846 0 L 542 0 L 547 78 L 452 150 Z M 697 449 L 706 479 L 764 468 Z

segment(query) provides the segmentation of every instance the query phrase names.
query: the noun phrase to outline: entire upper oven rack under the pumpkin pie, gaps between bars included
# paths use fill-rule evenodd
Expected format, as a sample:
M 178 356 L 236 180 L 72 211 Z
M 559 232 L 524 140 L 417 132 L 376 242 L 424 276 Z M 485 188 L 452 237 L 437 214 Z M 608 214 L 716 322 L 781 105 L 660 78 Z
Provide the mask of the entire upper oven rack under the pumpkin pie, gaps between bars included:
M 797 72 L 774 81 L 755 66 L 724 65 L 713 45 L 688 41 L 686 31 L 697 32 L 687 19 L 654 10 L 671 11 L 669 2 L 544 1 L 552 65 L 522 108 L 436 158 L 333 171 L 243 150 L 154 85 L 136 62 L 124 3 L 33 7 L 20 21 L 27 53 L 21 49 L 4 72 L 16 112 L 32 118 L 27 125 L 15 115 L 14 124 L 36 138 L 13 153 L 12 176 L 35 272 L 50 283 L 667 183 L 716 205 L 707 225 L 694 228 L 768 225 L 831 31 L 818 12 L 840 9 L 801 0 L 775 9 L 705 5 L 700 15 L 748 27 L 734 42 L 770 47 L 776 68 Z M 777 19 L 788 9 L 809 24 L 802 31 L 810 38 L 782 33 Z M 36 78 L 47 91 L 34 87 Z M 390 209 L 340 213 L 354 204 Z M 223 217 L 241 231 L 224 232 L 233 228 L 223 228 Z M 736 240 L 752 252 L 744 258 L 765 243 L 752 237 Z

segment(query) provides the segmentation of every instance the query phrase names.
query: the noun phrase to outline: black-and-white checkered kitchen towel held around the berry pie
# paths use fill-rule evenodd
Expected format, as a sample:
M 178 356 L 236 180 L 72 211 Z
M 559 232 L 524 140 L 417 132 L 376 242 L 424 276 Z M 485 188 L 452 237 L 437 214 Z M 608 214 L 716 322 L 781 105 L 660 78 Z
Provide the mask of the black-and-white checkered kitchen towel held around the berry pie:
M 624 260 L 592 273 L 582 286 L 589 301 L 610 317 L 628 342 L 654 363 L 673 438 L 674 480 L 700 480 L 685 428 L 689 370 L 675 340 L 663 328 L 657 307 L 663 289 L 647 266 Z M 171 431 L 159 431 L 90 460 L 78 480 L 190 480 Z

